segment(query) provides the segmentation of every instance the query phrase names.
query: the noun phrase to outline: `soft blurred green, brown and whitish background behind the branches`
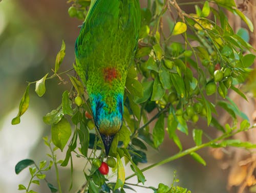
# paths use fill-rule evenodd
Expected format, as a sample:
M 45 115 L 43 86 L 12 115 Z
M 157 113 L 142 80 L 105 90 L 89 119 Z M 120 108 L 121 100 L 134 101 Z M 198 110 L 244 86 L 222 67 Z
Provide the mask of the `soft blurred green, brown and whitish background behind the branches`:
M 144 0 L 141 7 L 145 6 Z M 11 125 L 11 120 L 18 112 L 20 98 L 27 87 L 26 81 L 35 81 L 43 77 L 55 65 L 55 56 L 61 47 L 62 39 L 66 42 L 66 57 L 60 71 L 72 68 L 74 62 L 74 42 L 79 33 L 78 25 L 82 20 L 70 18 L 70 5 L 62 0 L 26 1 L 3 0 L 0 3 L 0 193 L 18 192 L 18 184 L 28 184 L 28 169 L 19 175 L 15 174 L 15 164 L 22 159 L 33 159 L 39 163 L 48 160 L 49 149 L 42 137 L 50 135 L 50 126 L 42 121 L 42 116 L 57 108 L 61 103 L 62 92 L 69 90 L 70 83 L 59 84 L 55 78 L 46 82 L 47 91 L 39 98 L 30 87 L 29 109 L 22 116 L 18 125 Z M 187 7 L 194 12 L 194 7 Z M 74 72 L 70 72 L 71 75 Z M 69 80 L 66 75 L 61 76 Z M 215 130 L 209 135 L 215 136 Z M 191 137 L 180 134 L 183 148 L 194 145 Z M 148 160 L 152 164 L 177 153 L 179 149 L 166 138 L 159 152 L 149 148 Z M 156 186 L 158 183 L 172 184 L 174 171 L 177 171 L 177 184 L 195 193 L 225 193 L 227 171 L 219 167 L 210 155 L 209 149 L 199 152 L 207 166 L 202 166 L 186 156 L 174 162 L 155 167 L 145 173 L 146 185 Z M 59 152 L 58 159 L 65 154 Z M 74 160 L 74 184 L 71 192 L 75 192 L 83 183 L 83 164 L 81 159 Z M 140 164 L 141 168 L 147 164 Z M 127 168 L 129 170 L 129 168 Z M 60 168 L 63 192 L 69 192 L 70 170 Z M 127 171 L 127 175 L 132 171 Z M 57 186 L 54 168 L 47 173 L 49 182 Z M 130 182 L 137 182 L 133 178 Z M 36 185 L 35 185 L 36 186 Z M 44 181 L 33 189 L 38 192 L 50 192 Z M 148 189 L 136 188 L 137 192 L 152 192 Z M 22 192 L 22 191 L 20 191 Z M 129 190 L 127 192 L 132 192 Z

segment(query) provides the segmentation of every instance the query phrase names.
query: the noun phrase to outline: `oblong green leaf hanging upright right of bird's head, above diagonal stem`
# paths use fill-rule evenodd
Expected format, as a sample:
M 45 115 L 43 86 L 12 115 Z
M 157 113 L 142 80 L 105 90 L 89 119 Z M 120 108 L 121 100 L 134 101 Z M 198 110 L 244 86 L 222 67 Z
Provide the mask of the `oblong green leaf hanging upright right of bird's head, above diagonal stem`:
M 164 115 L 161 114 L 153 128 L 153 141 L 155 147 L 159 147 L 164 139 Z

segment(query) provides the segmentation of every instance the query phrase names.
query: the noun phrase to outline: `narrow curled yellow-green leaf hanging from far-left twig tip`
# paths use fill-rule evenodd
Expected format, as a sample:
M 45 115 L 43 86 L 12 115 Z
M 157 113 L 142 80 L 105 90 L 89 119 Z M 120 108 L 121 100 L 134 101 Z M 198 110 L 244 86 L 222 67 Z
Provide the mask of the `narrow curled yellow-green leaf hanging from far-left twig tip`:
M 20 123 L 20 116 L 22 116 L 29 107 L 29 86 L 30 84 L 27 86 L 26 91 L 22 97 L 22 100 L 20 100 L 18 115 L 12 119 L 12 124 Z

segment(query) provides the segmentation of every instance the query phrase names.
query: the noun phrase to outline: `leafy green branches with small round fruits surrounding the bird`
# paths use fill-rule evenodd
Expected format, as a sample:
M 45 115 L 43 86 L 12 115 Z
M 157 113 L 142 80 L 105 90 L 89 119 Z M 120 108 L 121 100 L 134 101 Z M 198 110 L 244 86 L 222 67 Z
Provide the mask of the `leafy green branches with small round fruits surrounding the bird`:
M 90 1 L 70 0 L 69 3 L 72 3 L 68 10 L 70 16 L 84 19 Z M 178 5 L 175 0 L 164 2 L 156 0 L 152 4 L 148 0 L 147 7 L 141 9 L 139 46 L 125 85 L 123 125 L 113 140 L 110 150 L 110 157 L 115 158 L 117 162 L 113 168 L 117 177 L 115 183 L 109 182 L 108 178 L 100 174 L 98 167 L 93 164 L 95 159 L 103 161 L 105 155 L 103 151 L 99 151 L 103 148 L 103 144 L 94 128 L 90 102 L 84 92 L 82 82 L 78 77 L 69 75 L 73 84 L 71 90 L 64 91 L 58 108 L 43 118 L 46 124 L 51 125 L 51 140 L 45 138 L 45 143 L 51 150 L 52 154 L 48 156 L 52 161 L 46 168 L 41 167 L 46 164 L 45 161 L 41 162 L 39 167 L 32 160 L 23 160 L 22 164 L 19 162 L 16 165 L 18 171 L 26 166 L 35 165 L 30 168 L 29 185 L 27 187 L 19 185 L 19 189 L 34 192 L 29 190 L 30 184 L 39 184 L 39 181 L 33 178 L 43 179 L 44 177 L 45 179 L 42 171 L 49 170 L 54 164 L 58 191 L 61 192 L 58 165 L 65 167 L 70 162 L 72 178 L 72 156 L 74 155 L 86 160 L 82 171 L 86 182 L 78 192 L 99 192 L 99 190 L 101 192 L 111 192 L 111 190 L 125 192 L 127 188 L 133 189 L 131 186 L 144 184 L 146 179 L 143 171 L 185 155 L 190 155 L 199 163 L 206 165 L 204 159 L 196 153 L 201 148 L 226 146 L 255 148 L 255 144 L 228 139 L 252 127 L 247 116 L 238 109 L 227 94 L 231 89 L 246 99 L 240 86 L 251 71 L 250 66 L 255 56 L 251 53 L 244 54 L 245 51 L 249 52 L 252 49 L 247 42 L 246 31 L 241 29 L 238 33 L 233 32 L 228 24 L 225 9 L 238 14 L 250 30 L 253 30 L 253 26 L 236 7 L 233 0 L 215 0 L 211 3 L 216 4 L 217 8 L 210 7 L 208 1 L 204 1 L 202 6 L 196 5 L 196 2 L 187 3 L 195 4 L 195 14 L 183 12 L 180 6 L 186 3 Z M 177 19 L 174 19 L 173 10 L 179 15 Z M 173 20 L 169 19 L 169 15 Z M 164 19 L 168 20 L 168 26 L 163 26 Z M 168 29 L 167 33 L 165 28 Z M 177 37 L 182 40 L 176 41 Z M 29 82 L 20 101 L 18 115 L 12 120 L 12 124 L 18 124 L 20 116 L 28 109 L 29 88 L 32 84 L 35 84 L 35 92 L 41 97 L 45 94 L 47 80 L 57 77 L 62 81 L 60 77 L 62 74 L 73 71 L 72 68 L 66 72 L 58 72 L 65 57 L 65 50 L 65 42 L 62 41 L 61 49 L 56 56 L 55 70 L 50 77 L 46 74 L 35 82 Z M 210 100 L 208 95 L 214 95 L 215 100 Z M 230 114 L 233 119 L 232 125 L 223 126 L 218 122 L 217 106 Z M 151 115 L 150 119 L 148 115 Z M 240 125 L 237 125 L 238 116 L 244 119 Z M 150 123 L 156 119 L 153 130 L 151 130 Z M 197 126 L 199 119 L 205 120 L 208 126 L 213 126 L 223 135 L 203 143 L 202 137 L 205 131 Z M 190 128 L 188 123 L 191 123 L 193 128 Z M 165 125 L 167 125 L 166 128 Z M 147 149 L 158 149 L 162 144 L 165 130 L 168 137 L 179 147 L 180 152 L 139 169 L 137 166 L 139 163 L 147 162 Z M 193 133 L 195 146 L 183 151 L 182 141 L 177 132 L 188 135 L 189 130 Z M 69 144 L 67 144 L 68 141 Z M 63 161 L 57 161 L 54 152 L 57 149 L 63 151 L 64 147 L 67 147 L 66 158 Z M 96 152 L 100 152 L 99 156 Z M 125 164 L 130 164 L 134 171 L 133 175 L 126 178 L 123 160 Z M 133 176 L 137 176 L 138 184 L 126 182 Z M 57 191 L 53 185 L 49 184 L 52 192 Z M 164 184 L 159 184 L 157 188 L 149 188 L 157 193 L 189 192 L 185 188 L 168 187 Z

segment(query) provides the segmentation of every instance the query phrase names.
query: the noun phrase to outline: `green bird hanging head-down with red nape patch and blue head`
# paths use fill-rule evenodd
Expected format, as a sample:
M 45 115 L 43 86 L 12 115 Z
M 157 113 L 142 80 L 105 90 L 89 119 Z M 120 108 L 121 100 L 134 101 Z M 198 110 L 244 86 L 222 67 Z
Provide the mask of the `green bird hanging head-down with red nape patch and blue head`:
M 125 80 L 140 22 L 139 0 L 92 0 L 75 42 L 75 70 L 86 85 L 106 155 L 122 126 Z

